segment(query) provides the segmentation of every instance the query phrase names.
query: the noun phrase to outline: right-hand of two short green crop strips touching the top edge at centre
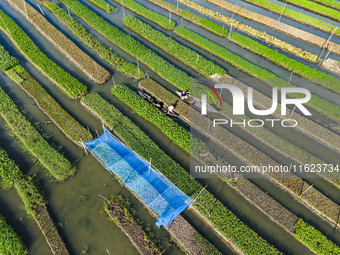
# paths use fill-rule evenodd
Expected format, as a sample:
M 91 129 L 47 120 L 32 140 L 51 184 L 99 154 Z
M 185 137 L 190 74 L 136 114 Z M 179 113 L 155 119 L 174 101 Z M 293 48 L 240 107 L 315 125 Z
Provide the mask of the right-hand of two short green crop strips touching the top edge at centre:
M 123 0 L 122 0 L 123 1 Z M 203 29 L 212 32 L 218 36 L 227 36 L 229 31 L 228 29 L 216 24 L 215 22 L 208 20 L 206 18 L 202 18 L 192 12 L 189 12 L 187 10 L 184 10 L 182 8 L 177 8 L 177 6 L 168 3 L 164 0 L 148 0 L 149 2 L 158 5 L 168 11 L 171 11 L 172 13 L 175 13 L 179 17 L 182 17 L 186 20 L 189 20 L 190 22 L 202 27 Z

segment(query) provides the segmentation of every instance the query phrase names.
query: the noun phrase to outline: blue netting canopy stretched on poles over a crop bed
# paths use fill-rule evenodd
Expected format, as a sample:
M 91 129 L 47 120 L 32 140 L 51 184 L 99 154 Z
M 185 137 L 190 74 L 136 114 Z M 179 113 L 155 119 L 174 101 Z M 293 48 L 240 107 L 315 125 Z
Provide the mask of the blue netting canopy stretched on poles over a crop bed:
M 84 143 L 112 173 L 160 217 L 157 226 L 169 224 L 193 201 L 150 163 L 105 130 L 97 139 Z

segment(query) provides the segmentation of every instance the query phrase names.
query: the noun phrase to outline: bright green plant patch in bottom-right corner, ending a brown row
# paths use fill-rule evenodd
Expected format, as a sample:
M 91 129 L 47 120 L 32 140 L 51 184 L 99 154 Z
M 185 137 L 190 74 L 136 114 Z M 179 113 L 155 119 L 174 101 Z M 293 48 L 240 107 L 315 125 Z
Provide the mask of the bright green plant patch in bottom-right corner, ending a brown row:
M 295 225 L 295 236 L 301 242 L 310 247 L 316 254 L 340 254 L 340 247 L 336 246 L 326 236 L 321 234 L 302 219 L 299 219 Z

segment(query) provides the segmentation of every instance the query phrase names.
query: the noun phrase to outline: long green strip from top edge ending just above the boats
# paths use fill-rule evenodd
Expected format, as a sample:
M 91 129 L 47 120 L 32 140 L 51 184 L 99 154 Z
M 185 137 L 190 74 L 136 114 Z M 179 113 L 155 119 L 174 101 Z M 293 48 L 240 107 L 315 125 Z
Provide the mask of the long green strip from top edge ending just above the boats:
M 60 0 L 60 2 L 65 4 L 73 13 L 81 17 L 98 32 L 135 58 L 139 59 L 165 80 L 181 89 L 190 88 L 190 77 L 185 72 L 179 70 L 137 40 L 99 17 L 82 3 L 76 0 Z

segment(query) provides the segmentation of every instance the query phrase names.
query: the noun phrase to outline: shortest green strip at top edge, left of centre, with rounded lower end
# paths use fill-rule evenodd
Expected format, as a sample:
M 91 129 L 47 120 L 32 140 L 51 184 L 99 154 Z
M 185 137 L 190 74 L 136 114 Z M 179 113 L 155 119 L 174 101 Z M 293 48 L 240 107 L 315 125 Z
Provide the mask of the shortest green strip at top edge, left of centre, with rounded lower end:
M 138 14 L 139 16 L 142 16 L 143 18 L 146 18 L 147 20 L 154 22 L 155 24 L 159 25 L 160 27 L 163 27 L 166 30 L 172 30 L 176 26 L 176 23 L 173 20 L 170 20 L 169 18 L 164 17 L 163 15 L 157 12 L 149 10 L 148 8 L 144 7 L 143 5 L 137 3 L 134 0 L 113 0 L 113 1 L 128 8 L 129 10 Z

